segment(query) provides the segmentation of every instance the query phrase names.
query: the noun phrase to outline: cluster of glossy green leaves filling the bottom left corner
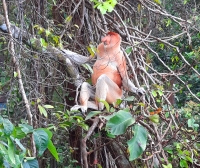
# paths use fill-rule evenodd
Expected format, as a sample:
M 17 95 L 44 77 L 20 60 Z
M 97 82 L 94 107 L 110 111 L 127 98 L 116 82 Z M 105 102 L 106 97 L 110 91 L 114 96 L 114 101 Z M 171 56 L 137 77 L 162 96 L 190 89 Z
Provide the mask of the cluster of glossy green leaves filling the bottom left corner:
M 20 142 L 30 135 L 34 137 L 39 157 L 48 149 L 54 158 L 59 160 L 56 148 L 51 141 L 52 132 L 50 130 L 33 129 L 32 126 L 25 123 L 14 126 L 7 118 L 4 119 L 0 116 L 0 165 L 23 168 L 39 167 L 37 159 L 31 157 L 29 149 Z

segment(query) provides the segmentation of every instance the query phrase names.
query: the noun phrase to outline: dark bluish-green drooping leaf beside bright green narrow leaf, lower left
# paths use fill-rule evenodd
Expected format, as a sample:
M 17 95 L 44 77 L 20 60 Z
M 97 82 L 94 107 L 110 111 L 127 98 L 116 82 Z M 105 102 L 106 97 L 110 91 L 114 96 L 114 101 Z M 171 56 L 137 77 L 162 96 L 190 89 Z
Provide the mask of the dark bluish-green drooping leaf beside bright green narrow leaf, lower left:
M 34 130 L 33 137 L 35 145 L 38 149 L 38 155 L 41 156 L 43 152 L 47 149 L 49 143 L 48 134 L 42 129 L 37 129 Z

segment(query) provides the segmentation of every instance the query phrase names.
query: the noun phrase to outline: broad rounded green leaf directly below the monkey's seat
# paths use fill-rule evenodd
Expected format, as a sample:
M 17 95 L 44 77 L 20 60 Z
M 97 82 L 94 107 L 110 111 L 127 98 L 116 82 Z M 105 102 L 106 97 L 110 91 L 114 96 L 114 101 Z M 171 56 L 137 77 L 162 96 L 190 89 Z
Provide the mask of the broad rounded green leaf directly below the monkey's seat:
M 113 135 L 125 133 L 126 129 L 135 122 L 131 113 L 119 110 L 106 124 L 107 129 Z

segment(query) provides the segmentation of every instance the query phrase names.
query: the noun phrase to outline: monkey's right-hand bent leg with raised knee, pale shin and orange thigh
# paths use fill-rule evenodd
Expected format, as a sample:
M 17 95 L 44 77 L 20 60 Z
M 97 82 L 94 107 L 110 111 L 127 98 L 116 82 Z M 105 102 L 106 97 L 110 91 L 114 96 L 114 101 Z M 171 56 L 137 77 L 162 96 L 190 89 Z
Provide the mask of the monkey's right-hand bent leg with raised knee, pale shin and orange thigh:
M 122 89 L 108 76 L 103 74 L 97 80 L 95 98 L 97 102 L 98 100 L 106 100 L 109 104 L 113 104 L 117 99 L 122 98 Z M 99 110 L 103 110 L 104 104 L 99 102 L 98 107 Z

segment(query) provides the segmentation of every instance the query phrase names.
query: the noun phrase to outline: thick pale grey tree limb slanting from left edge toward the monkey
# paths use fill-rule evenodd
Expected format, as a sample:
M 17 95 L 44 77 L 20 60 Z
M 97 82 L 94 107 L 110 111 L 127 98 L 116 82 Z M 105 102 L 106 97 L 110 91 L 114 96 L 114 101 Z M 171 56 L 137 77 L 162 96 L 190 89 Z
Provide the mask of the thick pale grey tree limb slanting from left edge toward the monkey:
M 0 30 L 5 33 L 8 33 L 8 28 L 7 28 L 7 25 L 5 24 L 5 18 L 1 14 L 0 14 Z M 19 36 L 22 36 L 23 41 L 29 46 L 32 46 L 33 48 L 35 48 L 36 50 L 38 51 L 44 50 L 44 47 L 41 45 L 40 40 L 36 39 L 31 34 L 25 32 L 24 30 L 21 30 L 20 28 L 18 28 L 17 26 L 13 24 L 10 24 L 10 33 L 12 35 L 12 38 L 15 38 L 15 39 L 18 39 Z M 62 60 L 65 62 L 66 67 L 67 67 L 67 72 L 70 75 L 70 77 L 73 79 L 76 87 L 82 84 L 83 81 L 80 78 L 79 72 L 73 63 L 78 64 L 78 65 L 84 64 L 90 60 L 90 57 L 86 57 L 69 50 L 58 49 L 53 46 L 48 46 L 46 48 L 46 53 L 51 53 L 55 56 L 55 58 L 58 58 L 58 60 Z

